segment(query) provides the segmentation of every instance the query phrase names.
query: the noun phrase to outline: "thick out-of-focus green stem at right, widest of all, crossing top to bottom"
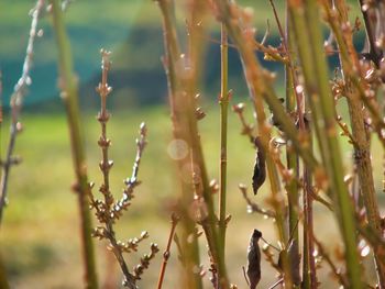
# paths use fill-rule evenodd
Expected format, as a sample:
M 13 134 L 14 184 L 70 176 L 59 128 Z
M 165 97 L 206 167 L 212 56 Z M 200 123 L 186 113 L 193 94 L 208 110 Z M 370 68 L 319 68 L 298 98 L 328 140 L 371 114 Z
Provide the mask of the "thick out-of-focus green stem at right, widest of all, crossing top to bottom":
M 329 178 L 337 218 L 345 244 L 346 268 L 351 288 L 362 288 L 361 265 L 356 249 L 354 211 L 348 189 L 343 182 L 343 167 L 337 140 L 334 104 L 331 96 L 328 68 L 324 59 L 322 34 L 319 26 L 317 3 L 306 0 L 302 4 L 289 1 L 290 18 L 297 38 L 305 85 L 318 126 L 318 141 Z M 306 46 L 301 44 L 306 43 Z M 321 137 L 320 137 L 321 136 Z

